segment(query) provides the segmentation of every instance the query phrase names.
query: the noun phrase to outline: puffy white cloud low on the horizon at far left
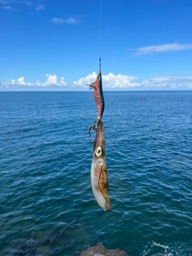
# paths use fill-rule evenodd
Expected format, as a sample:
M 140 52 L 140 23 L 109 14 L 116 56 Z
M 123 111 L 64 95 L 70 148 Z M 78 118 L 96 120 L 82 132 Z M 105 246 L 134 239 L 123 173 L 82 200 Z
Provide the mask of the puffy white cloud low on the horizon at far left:
M 58 77 L 55 74 L 46 74 L 46 82 L 26 82 L 24 77 L 18 78 L 17 80 L 11 79 L 10 82 L 2 83 L 2 86 L 66 86 L 65 78 L 61 77 L 58 81 Z

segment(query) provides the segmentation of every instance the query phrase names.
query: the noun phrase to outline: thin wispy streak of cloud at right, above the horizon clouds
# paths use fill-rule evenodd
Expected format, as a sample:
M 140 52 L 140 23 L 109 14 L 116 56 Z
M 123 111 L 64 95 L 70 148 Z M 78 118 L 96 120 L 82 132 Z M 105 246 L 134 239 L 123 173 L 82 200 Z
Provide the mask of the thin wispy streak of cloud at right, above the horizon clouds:
M 136 55 L 148 55 L 148 54 L 158 54 L 170 51 L 181 51 L 181 50 L 192 50 L 192 43 L 167 43 L 159 46 L 145 46 L 138 49 L 128 49 L 134 51 Z

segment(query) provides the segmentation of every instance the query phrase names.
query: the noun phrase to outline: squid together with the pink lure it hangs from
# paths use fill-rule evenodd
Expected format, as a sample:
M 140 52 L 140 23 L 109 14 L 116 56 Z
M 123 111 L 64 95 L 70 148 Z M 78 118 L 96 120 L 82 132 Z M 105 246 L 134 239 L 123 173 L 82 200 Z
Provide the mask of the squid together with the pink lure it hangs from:
M 94 154 L 92 158 L 90 180 L 94 197 L 104 210 L 110 210 L 110 198 L 108 191 L 108 178 L 106 170 L 106 155 L 105 155 L 105 131 L 102 123 L 102 114 L 105 107 L 105 101 L 102 93 L 102 72 L 101 59 L 100 69 L 95 82 L 90 85 L 90 90 L 94 89 L 94 102 L 98 109 L 98 118 L 94 121 L 94 126 L 90 126 L 90 130 L 96 131 L 94 139 Z

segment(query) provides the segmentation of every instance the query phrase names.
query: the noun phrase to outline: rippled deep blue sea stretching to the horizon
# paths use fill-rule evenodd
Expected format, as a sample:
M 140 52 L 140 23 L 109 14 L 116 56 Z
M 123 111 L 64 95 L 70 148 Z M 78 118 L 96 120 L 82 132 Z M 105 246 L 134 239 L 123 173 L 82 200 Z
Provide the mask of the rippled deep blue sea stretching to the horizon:
M 91 92 L 0 93 L 0 255 L 192 255 L 192 92 L 104 92 L 110 212 L 90 188 Z

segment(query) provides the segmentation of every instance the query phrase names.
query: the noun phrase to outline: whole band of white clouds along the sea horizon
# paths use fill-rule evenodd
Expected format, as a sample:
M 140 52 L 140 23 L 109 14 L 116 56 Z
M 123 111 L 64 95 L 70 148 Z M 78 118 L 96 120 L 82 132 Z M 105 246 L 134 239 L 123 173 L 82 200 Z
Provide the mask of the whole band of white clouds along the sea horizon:
M 79 78 L 67 86 L 67 90 L 87 90 L 87 86 L 95 80 L 97 74 L 93 72 L 85 78 Z M 58 77 L 55 74 L 46 74 L 46 82 L 26 82 L 24 77 L 11 79 L 10 82 L 0 83 L 0 90 L 33 90 L 33 88 L 42 88 L 41 90 L 66 90 L 65 78 Z M 104 90 L 192 90 L 191 76 L 164 76 L 158 78 L 148 78 L 142 82 L 137 77 L 124 74 L 102 75 L 102 86 Z

